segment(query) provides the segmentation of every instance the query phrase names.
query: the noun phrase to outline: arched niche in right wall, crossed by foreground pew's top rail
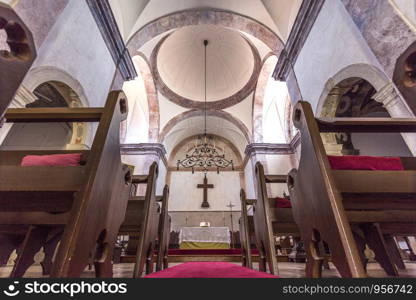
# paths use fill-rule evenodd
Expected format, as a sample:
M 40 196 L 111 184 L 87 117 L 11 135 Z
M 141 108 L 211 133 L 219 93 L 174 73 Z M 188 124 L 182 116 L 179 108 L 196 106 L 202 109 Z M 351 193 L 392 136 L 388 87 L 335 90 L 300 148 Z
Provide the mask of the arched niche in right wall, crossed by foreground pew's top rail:
M 322 93 L 316 115 L 319 117 L 390 117 L 389 111 L 379 101 L 380 93 L 390 86 L 375 67 L 354 65 L 332 77 Z M 385 147 L 385 139 L 392 142 Z M 397 133 L 324 133 L 323 141 L 328 154 L 331 155 L 376 155 L 408 156 L 409 149 Z

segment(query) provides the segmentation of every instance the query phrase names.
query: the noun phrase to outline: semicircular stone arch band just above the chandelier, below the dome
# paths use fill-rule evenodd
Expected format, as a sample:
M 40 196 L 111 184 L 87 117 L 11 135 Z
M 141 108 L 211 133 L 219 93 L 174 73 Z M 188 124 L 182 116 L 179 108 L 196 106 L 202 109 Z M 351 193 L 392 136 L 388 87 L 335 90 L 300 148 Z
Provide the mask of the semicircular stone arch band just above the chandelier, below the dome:
M 159 143 L 163 143 L 163 141 L 165 140 L 168 133 L 172 130 L 172 128 L 176 124 L 178 124 L 179 122 L 182 122 L 183 120 L 186 120 L 186 119 L 189 119 L 189 118 L 192 118 L 192 117 L 199 117 L 199 116 L 204 116 L 204 111 L 193 109 L 193 110 L 188 110 L 186 112 L 183 112 L 183 113 L 173 117 L 172 119 L 170 119 L 169 122 L 163 127 L 162 131 L 160 132 Z M 207 116 L 208 117 L 218 117 L 218 118 L 222 118 L 222 119 L 225 119 L 225 120 L 231 122 L 238 129 L 240 129 L 241 133 L 244 135 L 245 139 L 247 140 L 247 144 L 250 143 L 251 134 L 250 134 L 248 128 L 246 127 L 246 125 L 244 125 L 243 122 L 234 118 L 230 113 L 225 112 L 223 110 L 207 110 Z

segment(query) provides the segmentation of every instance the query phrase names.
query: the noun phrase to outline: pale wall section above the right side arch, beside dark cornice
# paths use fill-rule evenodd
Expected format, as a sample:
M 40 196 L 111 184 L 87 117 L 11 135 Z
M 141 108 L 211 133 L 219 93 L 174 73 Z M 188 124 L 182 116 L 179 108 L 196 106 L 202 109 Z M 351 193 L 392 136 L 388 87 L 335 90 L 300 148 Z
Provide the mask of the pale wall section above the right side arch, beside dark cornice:
M 316 109 L 328 79 L 357 63 L 382 69 L 341 1 L 325 1 L 295 64 L 303 99 Z

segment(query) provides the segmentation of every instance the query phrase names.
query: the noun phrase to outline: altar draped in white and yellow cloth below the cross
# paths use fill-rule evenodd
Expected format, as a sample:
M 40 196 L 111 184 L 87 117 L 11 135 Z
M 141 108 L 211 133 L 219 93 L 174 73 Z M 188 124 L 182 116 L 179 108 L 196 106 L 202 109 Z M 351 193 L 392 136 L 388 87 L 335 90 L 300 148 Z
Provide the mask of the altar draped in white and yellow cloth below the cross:
M 179 232 L 180 249 L 230 249 L 228 227 L 183 227 Z

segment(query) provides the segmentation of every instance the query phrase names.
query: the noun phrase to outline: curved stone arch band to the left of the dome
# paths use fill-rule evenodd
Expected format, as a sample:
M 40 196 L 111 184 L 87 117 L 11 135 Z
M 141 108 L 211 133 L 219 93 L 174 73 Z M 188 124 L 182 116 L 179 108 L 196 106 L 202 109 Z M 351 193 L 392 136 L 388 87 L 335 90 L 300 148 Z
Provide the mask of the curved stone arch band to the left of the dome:
M 153 79 L 150 63 L 146 56 L 138 52 L 135 56 L 138 64 L 139 72 L 142 75 L 144 86 L 147 94 L 147 103 L 149 106 L 149 143 L 156 143 L 159 139 L 160 130 L 160 110 L 159 98 L 157 94 L 156 84 Z

